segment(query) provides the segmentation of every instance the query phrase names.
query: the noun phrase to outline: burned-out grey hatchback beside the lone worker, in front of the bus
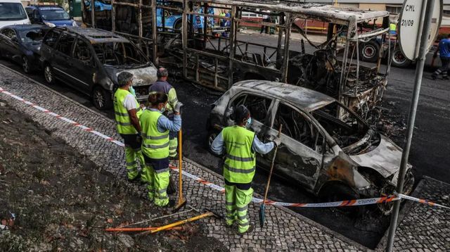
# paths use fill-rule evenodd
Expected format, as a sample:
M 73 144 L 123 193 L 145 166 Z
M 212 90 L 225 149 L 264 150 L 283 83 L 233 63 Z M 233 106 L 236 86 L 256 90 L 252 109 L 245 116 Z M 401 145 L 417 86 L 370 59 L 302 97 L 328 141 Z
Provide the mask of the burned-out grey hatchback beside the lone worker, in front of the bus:
M 337 100 L 311 89 L 279 82 L 237 82 L 212 105 L 207 120 L 208 143 L 222 128 L 233 125 L 233 108 L 250 110 L 250 130 L 259 139 L 271 139 L 283 125 L 274 174 L 301 184 L 328 201 L 392 194 L 402 150 Z M 259 154 L 258 154 L 259 155 Z M 259 155 L 267 168 L 273 151 Z M 408 165 L 404 190 L 412 191 L 414 177 Z M 391 206 L 380 204 L 384 213 Z

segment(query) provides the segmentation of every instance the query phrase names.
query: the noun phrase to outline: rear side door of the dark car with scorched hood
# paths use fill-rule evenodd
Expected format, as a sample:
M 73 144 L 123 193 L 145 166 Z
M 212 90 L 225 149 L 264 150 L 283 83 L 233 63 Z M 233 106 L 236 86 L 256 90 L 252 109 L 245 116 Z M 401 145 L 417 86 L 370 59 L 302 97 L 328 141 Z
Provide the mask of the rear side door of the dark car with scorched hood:
M 77 81 L 72 77 L 72 51 L 73 44 L 75 42 L 75 35 L 69 32 L 62 32 L 58 42 L 56 43 L 56 49 L 52 50 L 51 66 L 55 70 L 55 75 L 63 82 L 75 86 Z

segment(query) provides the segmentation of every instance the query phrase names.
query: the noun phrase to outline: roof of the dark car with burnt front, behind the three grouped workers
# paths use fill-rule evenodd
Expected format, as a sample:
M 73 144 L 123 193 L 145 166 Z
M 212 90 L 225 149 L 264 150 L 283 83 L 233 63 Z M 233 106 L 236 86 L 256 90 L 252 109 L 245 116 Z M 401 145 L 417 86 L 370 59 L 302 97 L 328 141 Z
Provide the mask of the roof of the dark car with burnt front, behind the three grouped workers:
M 113 32 L 108 32 L 100 29 L 86 28 L 79 26 L 55 27 L 53 29 L 67 30 L 68 32 L 79 34 L 80 36 L 89 39 L 89 42 L 91 42 L 91 44 L 99 44 L 105 42 L 129 42 L 128 39 L 125 39 L 122 36 L 114 34 Z

